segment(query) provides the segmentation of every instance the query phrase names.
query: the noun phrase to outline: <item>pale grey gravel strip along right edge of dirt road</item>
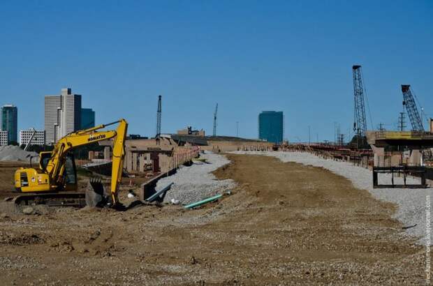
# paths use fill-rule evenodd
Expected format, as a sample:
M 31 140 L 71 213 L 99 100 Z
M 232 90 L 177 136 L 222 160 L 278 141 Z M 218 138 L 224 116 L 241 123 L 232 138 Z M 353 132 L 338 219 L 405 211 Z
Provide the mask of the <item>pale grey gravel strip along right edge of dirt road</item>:
M 433 199 L 432 188 L 405 189 L 405 188 L 381 188 L 374 189 L 372 185 L 372 171 L 354 166 L 352 163 L 326 160 L 314 156 L 311 153 L 301 152 L 260 152 L 260 151 L 235 151 L 233 153 L 259 154 L 274 156 L 283 162 L 295 162 L 315 167 L 323 167 L 335 174 L 351 180 L 355 188 L 368 190 L 376 199 L 392 202 L 398 205 L 397 212 L 393 216 L 401 221 L 406 229 L 406 234 L 417 236 L 418 243 L 425 245 L 426 234 L 426 197 Z M 379 183 L 390 183 L 390 174 L 379 174 Z M 419 179 L 408 178 L 407 183 L 419 183 Z M 402 179 L 395 179 L 395 183 L 402 183 Z M 416 225 L 414 227 L 411 227 Z M 430 234 L 431 235 L 431 234 Z

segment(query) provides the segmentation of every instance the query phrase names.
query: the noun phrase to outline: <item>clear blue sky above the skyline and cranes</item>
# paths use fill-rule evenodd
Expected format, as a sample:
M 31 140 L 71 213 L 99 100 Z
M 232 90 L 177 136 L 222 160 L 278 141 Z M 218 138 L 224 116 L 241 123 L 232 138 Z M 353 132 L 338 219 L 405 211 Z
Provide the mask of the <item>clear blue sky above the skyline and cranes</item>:
M 97 123 L 130 133 L 191 125 L 258 136 L 283 111 L 285 136 L 332 140 L 353 124 L 362 65 L 374 127 L 394 128 L 400 84 L 433 116 L 433 1 L 0 1 L 0 105 L 43 128 L 43 96 L 71 87 Z

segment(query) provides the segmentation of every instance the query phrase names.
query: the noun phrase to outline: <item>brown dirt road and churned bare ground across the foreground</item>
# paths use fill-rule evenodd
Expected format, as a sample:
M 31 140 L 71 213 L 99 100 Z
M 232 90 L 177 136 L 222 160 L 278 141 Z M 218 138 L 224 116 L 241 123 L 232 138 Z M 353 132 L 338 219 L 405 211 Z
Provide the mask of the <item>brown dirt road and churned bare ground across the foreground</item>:
M 391 204 L 335 174 L 228 155 L 239 184 L 203 209 L 51 209 L 0 217 L 0 276 L 11 285 L 420 285 L 423 248 Z

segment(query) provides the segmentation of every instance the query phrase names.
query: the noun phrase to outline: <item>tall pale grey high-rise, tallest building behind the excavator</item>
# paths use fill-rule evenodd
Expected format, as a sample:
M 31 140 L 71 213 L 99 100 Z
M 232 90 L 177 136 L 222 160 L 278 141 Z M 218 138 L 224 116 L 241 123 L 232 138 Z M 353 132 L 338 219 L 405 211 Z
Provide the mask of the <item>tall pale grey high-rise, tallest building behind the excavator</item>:
M 81 96 L 61 89 L 60 96 L 45 96 L 45 144 L 81 128 Z

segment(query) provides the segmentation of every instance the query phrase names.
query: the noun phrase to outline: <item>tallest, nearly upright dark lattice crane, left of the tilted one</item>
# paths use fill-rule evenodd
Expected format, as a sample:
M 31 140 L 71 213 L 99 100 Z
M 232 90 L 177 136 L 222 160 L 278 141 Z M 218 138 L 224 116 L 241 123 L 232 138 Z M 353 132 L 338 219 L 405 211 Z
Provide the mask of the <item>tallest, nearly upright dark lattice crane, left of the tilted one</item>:
M 361 66 L 352 66 L 353 94 L 355 96 L 355 116 L 353 120 L 353 131 L 358 137 L 364 137 L 367 130 L 367 119 L 365 119 L 364 84 L 362 82 Z

